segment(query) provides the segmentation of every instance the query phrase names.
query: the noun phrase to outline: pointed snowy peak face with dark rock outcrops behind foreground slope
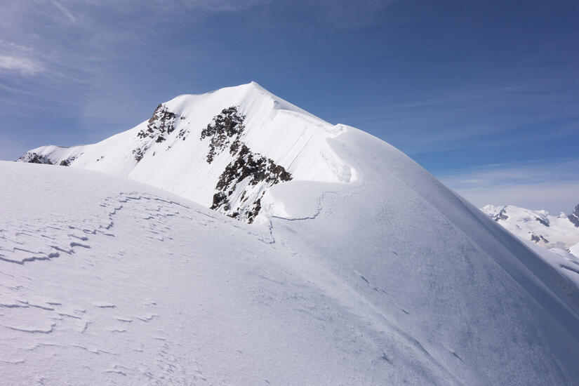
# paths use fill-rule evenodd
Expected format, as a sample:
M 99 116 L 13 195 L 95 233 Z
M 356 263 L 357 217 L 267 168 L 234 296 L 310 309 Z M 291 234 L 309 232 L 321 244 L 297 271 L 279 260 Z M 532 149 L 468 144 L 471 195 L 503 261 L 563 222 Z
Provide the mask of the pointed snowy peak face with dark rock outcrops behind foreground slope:
M 345 131 L 251 82 L 180 95 L 124 133 L 93 145 L 39 147 L 18 161 L 121 175 L 251 223 L 262 199 L 275 211 L 271 189 L 281 182 L 355 180 L 328 142 Z

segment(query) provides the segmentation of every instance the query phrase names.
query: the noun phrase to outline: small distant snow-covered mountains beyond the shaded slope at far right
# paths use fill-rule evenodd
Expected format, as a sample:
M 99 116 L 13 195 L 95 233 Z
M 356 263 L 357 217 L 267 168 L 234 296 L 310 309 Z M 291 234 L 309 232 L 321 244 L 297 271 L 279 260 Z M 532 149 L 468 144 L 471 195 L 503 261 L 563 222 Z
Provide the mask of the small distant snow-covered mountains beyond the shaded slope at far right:
M 573 251 L 579 258 L 579 205 L 575 206 L 573 213 L 557 216 L 512 205 L 487 205 L 481 211 L 521 239 L 547 249 Z

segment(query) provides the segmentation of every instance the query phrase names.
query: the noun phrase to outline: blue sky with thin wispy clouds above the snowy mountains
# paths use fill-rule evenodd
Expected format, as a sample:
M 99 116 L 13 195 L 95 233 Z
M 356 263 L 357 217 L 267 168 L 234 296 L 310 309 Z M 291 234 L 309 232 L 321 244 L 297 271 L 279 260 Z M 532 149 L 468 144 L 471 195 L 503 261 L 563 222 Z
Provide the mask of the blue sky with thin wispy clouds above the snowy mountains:
M 579 3 L 0 0 L 0 159 L 257 81 L 477 206 L 579 203 Z

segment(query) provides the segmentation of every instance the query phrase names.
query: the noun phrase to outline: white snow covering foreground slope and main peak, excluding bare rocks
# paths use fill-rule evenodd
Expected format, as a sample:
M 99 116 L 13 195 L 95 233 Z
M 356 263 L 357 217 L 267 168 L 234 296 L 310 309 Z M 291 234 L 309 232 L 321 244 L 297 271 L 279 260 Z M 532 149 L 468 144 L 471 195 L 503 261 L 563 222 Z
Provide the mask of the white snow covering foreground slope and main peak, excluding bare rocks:
M 577 262 L 573 280 L 394 147 L 256 85 L 157 117 L 187 121 L 190 100 L 220 92 L 241 96 L 195 110 L 194 137 L 169 150 L 180 128 L 153 125 L 164 140 L 140 161 L 142 127 L 53 148 L 70 153 L 52 164 L 76 154 L 69 168 L 0 162 L 3 385 L 578 384 Z M 265 201 L 253 224 L 208 208 L 241 153 L 209 164 L 197 135 L 232 106 L 240 141 L 291 173 L 236 180 Z M 101 155 L 121 177 L 84 169 Z

